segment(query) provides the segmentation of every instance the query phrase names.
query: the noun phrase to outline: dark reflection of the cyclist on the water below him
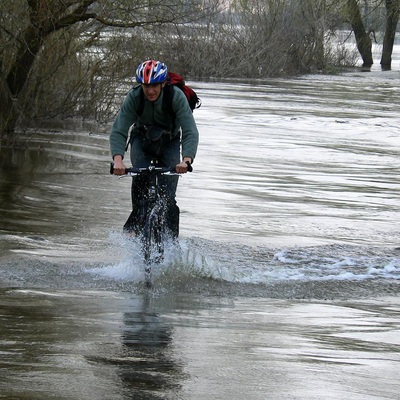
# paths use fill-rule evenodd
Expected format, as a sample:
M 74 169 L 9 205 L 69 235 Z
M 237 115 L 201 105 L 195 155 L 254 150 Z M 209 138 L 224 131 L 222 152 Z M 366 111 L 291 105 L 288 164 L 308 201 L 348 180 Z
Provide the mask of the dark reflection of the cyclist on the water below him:
M 171 351 L 172 326 L 152 311 L 148 296 L 132 299 L 123 313 L 121 348 L 86 359 L 95 365 L 116 367 L 123 393 L 129 398 L 178 398 L 184 374 Z

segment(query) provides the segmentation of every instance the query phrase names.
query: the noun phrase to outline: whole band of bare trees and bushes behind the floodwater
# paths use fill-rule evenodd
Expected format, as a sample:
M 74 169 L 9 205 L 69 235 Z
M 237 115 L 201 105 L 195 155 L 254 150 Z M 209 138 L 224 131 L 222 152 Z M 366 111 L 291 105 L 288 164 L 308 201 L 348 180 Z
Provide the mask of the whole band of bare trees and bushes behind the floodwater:
M 0 138 L 34 119 L 108 121 L 144 59 L 190 79 L 391 68 L 400 0 L 0 2 Z M 354 33 L 358 53 L 340 32 Z

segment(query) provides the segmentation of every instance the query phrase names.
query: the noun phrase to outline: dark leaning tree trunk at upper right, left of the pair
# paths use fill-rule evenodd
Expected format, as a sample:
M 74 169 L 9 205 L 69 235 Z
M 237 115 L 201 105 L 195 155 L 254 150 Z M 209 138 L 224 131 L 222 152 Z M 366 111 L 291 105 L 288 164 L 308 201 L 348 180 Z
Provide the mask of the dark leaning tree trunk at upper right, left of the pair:
M 362 66 L 369 69 L 374 63 L 372 58 L 372 41 L 369 33 L 365 31 L 357 0 L 348 0 L 347 8 L 350 24 L 356 37 L 357 49 L 363 60 Z

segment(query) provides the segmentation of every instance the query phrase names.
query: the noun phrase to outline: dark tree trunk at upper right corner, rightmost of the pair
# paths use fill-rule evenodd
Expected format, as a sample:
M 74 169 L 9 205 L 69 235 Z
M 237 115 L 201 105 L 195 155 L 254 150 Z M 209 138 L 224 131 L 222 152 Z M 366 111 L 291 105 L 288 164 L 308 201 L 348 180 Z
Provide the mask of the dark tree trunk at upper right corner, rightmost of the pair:
M 383 49 L 381 57 L 382 70 L 390 70 L 392 67 L 392 52 L 396 27 L 399 21 L 400 0 L 386 0 L 386 29 L 383 38 Z

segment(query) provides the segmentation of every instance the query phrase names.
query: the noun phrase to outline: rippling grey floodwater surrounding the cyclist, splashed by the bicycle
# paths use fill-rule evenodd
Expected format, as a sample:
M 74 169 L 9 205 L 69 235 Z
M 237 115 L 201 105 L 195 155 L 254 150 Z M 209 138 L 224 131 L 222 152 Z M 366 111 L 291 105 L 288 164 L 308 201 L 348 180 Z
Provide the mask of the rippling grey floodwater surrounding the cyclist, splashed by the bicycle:
M 399 83 L 193 84 L 180 250 L 151 289 L 106 130 L 1 149 L 0 398 L 399 399 Z

